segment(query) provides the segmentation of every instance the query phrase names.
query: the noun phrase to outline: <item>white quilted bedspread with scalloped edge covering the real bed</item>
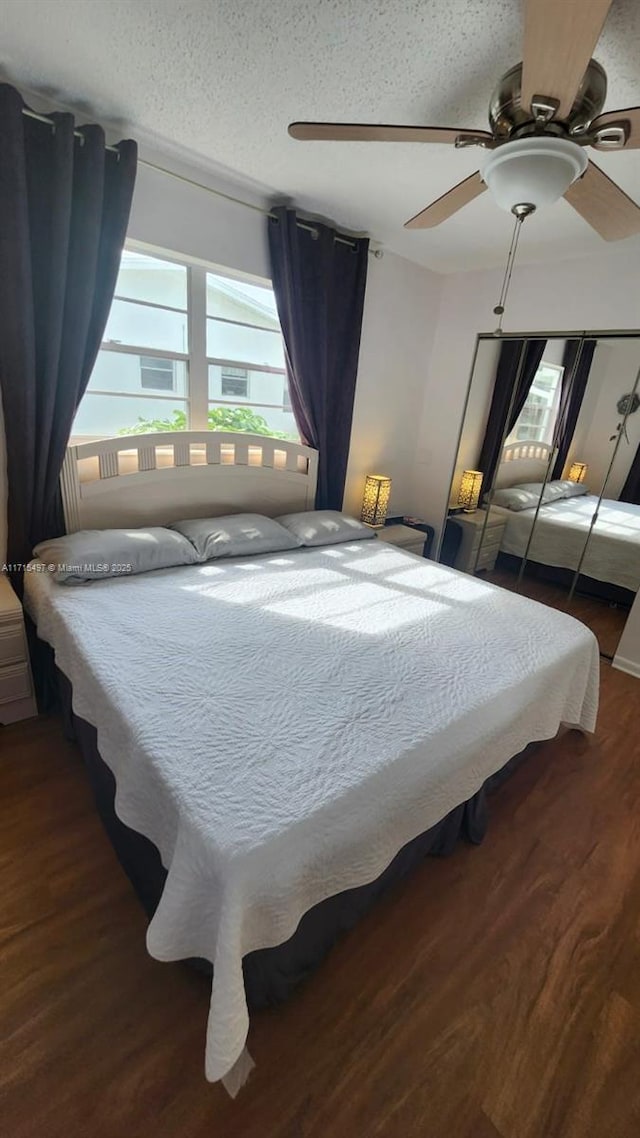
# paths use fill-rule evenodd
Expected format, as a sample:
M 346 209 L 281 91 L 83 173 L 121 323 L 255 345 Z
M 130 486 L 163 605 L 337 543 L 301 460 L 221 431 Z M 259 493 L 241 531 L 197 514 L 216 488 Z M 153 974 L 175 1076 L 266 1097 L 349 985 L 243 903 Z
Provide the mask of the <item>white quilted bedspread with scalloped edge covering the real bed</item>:
M 30 572 L 26 603 L 118 816 L 169 871 L 149 953 L 213 963 L 206 1074 L 228 1087 L 245 954 L 374 880 L 530 741 L 594 727 L 583 625 L 381 542 L 76 588 Z

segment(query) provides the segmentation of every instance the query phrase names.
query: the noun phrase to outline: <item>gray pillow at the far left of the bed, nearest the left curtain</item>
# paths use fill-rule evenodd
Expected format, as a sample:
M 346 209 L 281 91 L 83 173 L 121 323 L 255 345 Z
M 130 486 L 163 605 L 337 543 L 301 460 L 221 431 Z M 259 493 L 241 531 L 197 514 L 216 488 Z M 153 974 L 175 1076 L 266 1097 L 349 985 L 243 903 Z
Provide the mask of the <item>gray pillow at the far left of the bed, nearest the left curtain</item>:
M 104 577 L 129 577 L 151 569 L 190 566 L 198 559 L 180 534 L 149 529 L 81 529 L 40 542 L 34 555 L 50 567 L 59 585 L 81 585 Z

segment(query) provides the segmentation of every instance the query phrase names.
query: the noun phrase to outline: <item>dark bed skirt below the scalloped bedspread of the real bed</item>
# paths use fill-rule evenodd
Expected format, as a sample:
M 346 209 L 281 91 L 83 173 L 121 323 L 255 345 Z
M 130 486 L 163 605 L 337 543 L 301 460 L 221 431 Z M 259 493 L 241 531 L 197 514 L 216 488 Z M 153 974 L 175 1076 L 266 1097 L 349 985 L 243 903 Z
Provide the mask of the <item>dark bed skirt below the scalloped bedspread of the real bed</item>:
M 97 732 L 72 710 L 72 685 L 58 671 L 58 686 L 65 731 L 77 742 L 102 825 L 149 920 L 155 913 L 166 879 L 156 847 L 142 834 L 120 820 L 114 809 L 115 778 L 100 758 Z M 320 964 L 339 937 L 367 913 L 391 885 L 399 882 L 428 855 L 444 857 L 460 838 L 479 844 L 487 828 L 487 793 L 519 766 L 530 751 L 510 759 L 467 802 L 451 810 L 430 830 L 408 842 L 391 865 L 367 885 L 348 889 L 315 905 L 302 917 L 295 933 L 282 945 L 259 949 L 244 957 L 243 971 L 249 1011 L 280 1004 Z M 206 960 L 188 962 L 211 975 Z

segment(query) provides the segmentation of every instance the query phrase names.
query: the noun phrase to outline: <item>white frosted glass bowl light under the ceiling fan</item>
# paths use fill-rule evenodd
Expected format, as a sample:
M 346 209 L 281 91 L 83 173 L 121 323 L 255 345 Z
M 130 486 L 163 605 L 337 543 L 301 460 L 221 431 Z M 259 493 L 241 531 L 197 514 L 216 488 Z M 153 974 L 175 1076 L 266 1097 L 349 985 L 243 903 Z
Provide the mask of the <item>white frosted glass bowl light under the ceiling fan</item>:
M 586 163 L 577 142 L 548 135 L 525 138 L 492 150 L 482 178 L 501 209 L 512 213 L 524 203 L 540 209 L 558 201 L 584 174 Z

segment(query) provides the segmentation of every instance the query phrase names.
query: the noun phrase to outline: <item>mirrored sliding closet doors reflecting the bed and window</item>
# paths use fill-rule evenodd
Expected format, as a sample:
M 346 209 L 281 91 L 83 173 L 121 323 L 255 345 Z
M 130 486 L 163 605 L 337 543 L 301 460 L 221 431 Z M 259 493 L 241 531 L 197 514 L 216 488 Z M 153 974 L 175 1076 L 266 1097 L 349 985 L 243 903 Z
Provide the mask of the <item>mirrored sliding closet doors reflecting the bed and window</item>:
M 640 587 L 639 373 L 637 335 L 478 337 L 441 549 L 607 657 Z

